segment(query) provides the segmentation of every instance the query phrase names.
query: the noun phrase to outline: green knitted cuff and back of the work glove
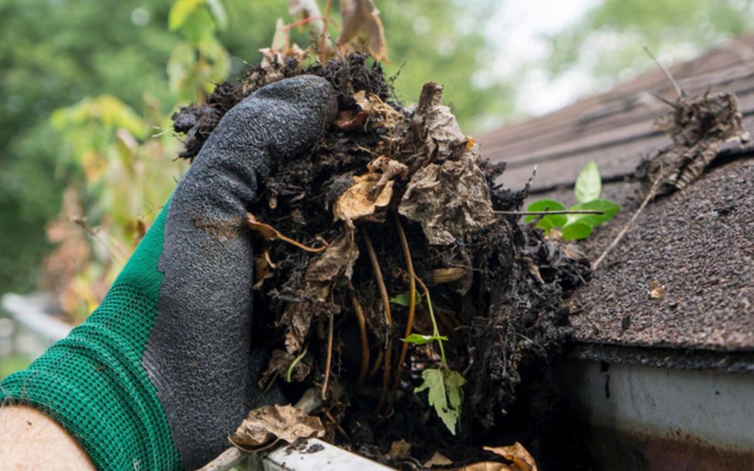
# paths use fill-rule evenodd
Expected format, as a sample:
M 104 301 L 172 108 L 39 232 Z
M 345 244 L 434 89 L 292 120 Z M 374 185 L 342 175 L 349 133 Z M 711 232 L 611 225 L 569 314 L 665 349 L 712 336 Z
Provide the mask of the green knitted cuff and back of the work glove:
M 166 204 L 100 307 L 0 393 L 62 425 L 97 469 L 178 469 L 164 409 L 142 366 L 163 275 Z

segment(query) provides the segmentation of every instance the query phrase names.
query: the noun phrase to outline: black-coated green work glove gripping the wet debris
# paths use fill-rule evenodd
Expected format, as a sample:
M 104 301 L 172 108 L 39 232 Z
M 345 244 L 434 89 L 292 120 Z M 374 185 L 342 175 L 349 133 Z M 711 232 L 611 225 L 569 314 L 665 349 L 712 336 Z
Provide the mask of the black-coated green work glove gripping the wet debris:
M 195 469 L 227 448 L 256 380 L 245 215 L 271 163 L 305 158 L 336 111 L 333 87 L 306 75 L 231 109 L 100 307 L 2 394 L 49 414 L 99 469 Z

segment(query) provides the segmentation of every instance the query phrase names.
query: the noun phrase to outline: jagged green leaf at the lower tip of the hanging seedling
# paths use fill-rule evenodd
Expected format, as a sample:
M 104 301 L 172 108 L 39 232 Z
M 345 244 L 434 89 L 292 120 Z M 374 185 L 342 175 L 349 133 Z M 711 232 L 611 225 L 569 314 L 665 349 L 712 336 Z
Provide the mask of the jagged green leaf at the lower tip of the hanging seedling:
M 414 389 L 415 393 L 428 390 L 429 405 L 434 407 L 445 427 L 455 435 L 455 425 L 461 418 L 461 404 L 464 392 L 461 389 L 466 380 L 458 372 L 447 368 L 425 369 L 421 372 L 424 383 Z

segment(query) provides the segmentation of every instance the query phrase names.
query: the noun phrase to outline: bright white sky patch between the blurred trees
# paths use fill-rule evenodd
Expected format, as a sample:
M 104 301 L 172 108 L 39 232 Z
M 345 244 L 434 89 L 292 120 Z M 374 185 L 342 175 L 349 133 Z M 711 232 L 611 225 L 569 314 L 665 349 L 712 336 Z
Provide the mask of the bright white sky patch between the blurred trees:
M 578 96 L 596 91 L 596 81 L 583 70 L 573 69 L 555 81 L 548 81 L 541 68 L 526 72 L 523 69 L 527 63 L 544 60 L 549 55 L 545 35 L 559 32 L 575 23 L 591 8 L 599 5 L 599 0 L 501 3 L 489 23 L 487 35 L 495 44 L 499 44 L 495 59 L 498 77 L 520 79 L 515 75 L 526 74 L 520 81 L 516 99 L 516 109 L 520 115 L 542 115 L 569 105 Z

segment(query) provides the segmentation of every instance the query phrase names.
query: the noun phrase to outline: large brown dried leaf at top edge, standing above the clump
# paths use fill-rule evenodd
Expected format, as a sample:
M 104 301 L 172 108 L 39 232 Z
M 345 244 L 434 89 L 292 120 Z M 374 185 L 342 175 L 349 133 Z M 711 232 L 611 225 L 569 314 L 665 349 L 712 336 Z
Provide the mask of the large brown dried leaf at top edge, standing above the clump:
M 338 44 L 346 51 L 366 47 L 376 60 L 388 62 L 388 42 L 379 10 L 372 0 L 341 0 L 343 29 Z

